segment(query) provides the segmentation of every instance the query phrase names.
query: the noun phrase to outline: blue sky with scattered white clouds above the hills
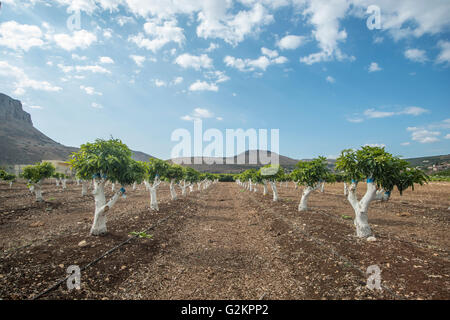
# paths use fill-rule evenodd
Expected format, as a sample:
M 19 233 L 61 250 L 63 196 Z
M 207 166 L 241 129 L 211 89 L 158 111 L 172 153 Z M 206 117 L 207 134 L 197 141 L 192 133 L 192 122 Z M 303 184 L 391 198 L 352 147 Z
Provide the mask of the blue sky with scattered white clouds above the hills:
M 447 154 L 449 27 L 437 0 L 6 0 L 0 92 L 70 146 L 113 135 L 166 159 L 200 118 L 279 129 L 293 158 Z

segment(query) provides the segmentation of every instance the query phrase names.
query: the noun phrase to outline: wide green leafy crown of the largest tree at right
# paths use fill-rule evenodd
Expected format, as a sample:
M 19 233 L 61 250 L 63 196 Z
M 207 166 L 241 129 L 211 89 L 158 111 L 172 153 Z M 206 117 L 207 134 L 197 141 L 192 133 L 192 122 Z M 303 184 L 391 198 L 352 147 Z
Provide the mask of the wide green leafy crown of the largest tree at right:
M 336 169 L 345 177 L 359 181 L 372 179 L 378 188 L 390 192 L 397 187 L 400 194 L 414 184 L 423 184 L 429 177 L 420 169 L 411 168 L 406 160 L 394 157 L 380 147 L 362 147 L 344 150 L 336 161 Z

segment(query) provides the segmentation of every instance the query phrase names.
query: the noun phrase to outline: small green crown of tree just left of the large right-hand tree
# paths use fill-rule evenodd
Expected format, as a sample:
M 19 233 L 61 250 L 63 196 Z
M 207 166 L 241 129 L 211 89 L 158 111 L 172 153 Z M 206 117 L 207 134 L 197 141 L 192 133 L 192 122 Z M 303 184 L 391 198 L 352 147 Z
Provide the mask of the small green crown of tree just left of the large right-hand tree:
M 312 188 L 320 182 L 331 179 L 329 176 L 330 170 L 325 157 L 319 157 L 312 161 L 299 161 L 291 173 L 292 179 L 298 181 L 298 184 Z

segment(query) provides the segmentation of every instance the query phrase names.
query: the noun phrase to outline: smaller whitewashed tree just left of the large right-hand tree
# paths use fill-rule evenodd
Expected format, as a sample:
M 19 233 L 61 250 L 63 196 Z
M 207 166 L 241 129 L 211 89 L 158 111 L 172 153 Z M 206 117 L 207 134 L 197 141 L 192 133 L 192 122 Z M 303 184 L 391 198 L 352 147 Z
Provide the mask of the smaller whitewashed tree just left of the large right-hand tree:
M 327 179 L 330 171 L 325 157 L 318 157 L 312 161 L 299 161 L 291 176 L 299 185 L 304 186 L 298 211 L 308 210 L 308 198 L 311 192 L 317 190 Z

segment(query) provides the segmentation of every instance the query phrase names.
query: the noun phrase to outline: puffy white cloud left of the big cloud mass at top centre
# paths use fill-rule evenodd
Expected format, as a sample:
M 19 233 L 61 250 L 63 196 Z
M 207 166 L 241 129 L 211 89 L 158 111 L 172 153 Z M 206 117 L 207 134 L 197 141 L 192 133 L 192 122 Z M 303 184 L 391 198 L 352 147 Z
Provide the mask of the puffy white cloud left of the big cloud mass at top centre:
M 186 39 L 183 29 L 177 27 L 176 20 L 164 21 L 162 24 L 153 21 L 147 22 L 144 24 L 144 31 L 150 38 L 146 38 L 143 33 L 139 33 L 130 36 L 128 40 L 134 42 L 139 48 L 151 50 L 153 53 L 170 42 L 181 45 Z

